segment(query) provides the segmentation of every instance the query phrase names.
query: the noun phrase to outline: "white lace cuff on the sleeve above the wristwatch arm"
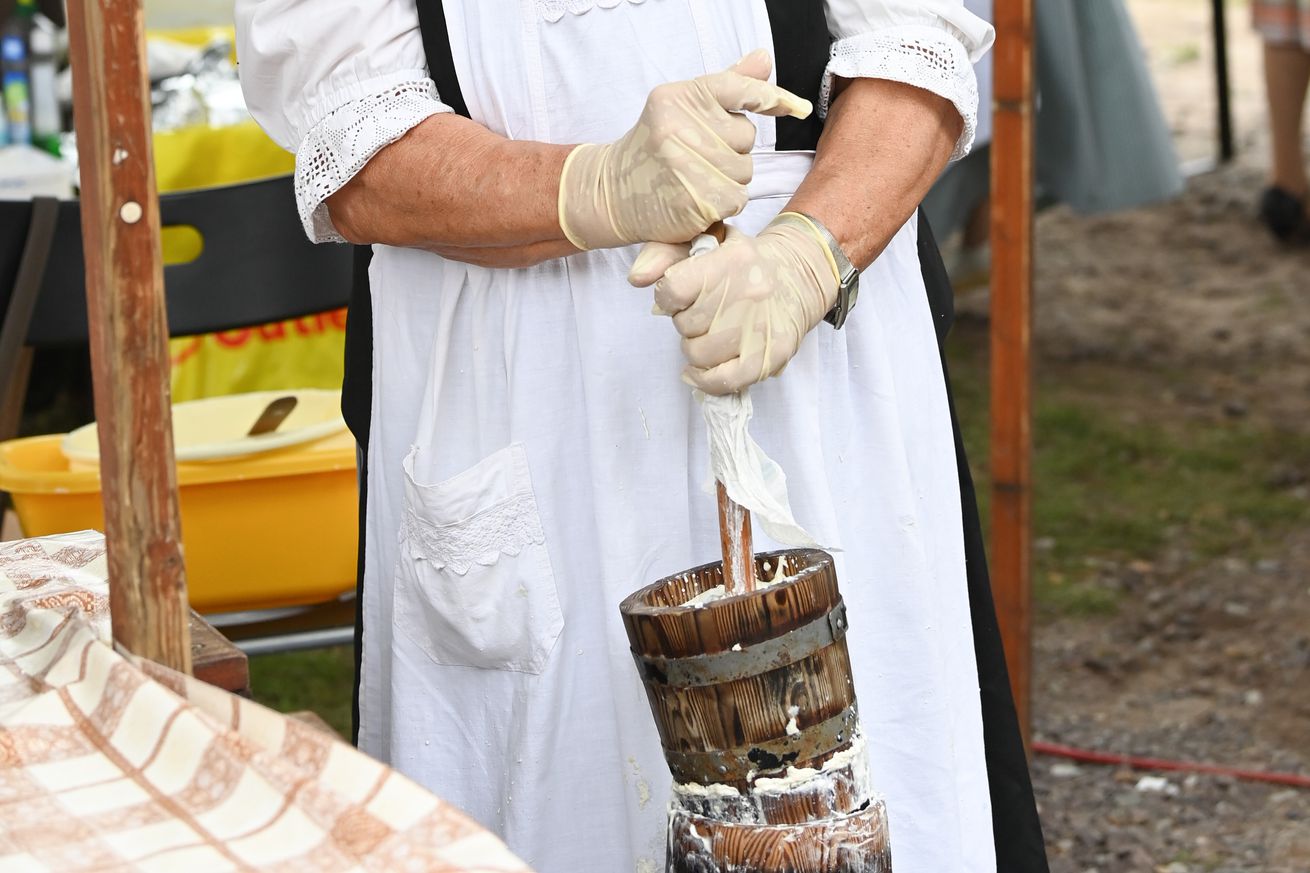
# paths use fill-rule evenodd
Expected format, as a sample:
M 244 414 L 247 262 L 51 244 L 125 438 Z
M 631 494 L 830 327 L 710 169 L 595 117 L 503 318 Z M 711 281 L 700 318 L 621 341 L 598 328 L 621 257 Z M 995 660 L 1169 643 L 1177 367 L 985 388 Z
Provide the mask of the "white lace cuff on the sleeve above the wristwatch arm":
M 838 39 L 823 77 L 820 114 L 828 113 L 834 76 L 887 79 L 945 97 L 964 119 L 951 160 L 969 153 L 977 125 L 979 83 L 969 52 L 951 29 L 903 25 Z

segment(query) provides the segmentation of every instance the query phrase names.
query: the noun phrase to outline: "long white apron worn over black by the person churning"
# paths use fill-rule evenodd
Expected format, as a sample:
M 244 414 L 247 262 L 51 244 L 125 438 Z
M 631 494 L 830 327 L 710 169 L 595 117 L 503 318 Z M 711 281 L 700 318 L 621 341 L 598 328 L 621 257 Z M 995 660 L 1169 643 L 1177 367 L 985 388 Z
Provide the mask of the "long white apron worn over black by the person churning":
M 447 3 L 473 117 L 607 142 L 655 85 L 772 47 L 762 0 Z M 761 228 L 811 156 L 757 118 Z M 703 423 L 634 249 L 486 270 L 375 246 L 360 746 L 540 873 L 663 868 L 669 775 L 618 615 L 717 557 Z M 907 224 L 846 326 L 752 389 L 796 519 L 842 549 L 897 873 L 994 873 L 959 482 Z M 773 545 L 757 534 L 757 548 Z

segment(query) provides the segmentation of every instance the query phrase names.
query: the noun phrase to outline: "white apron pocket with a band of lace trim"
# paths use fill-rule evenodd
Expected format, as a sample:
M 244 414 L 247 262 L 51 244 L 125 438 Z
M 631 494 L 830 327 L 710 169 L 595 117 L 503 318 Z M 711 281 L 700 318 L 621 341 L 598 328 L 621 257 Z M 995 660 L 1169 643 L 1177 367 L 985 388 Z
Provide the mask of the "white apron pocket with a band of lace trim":
M 405 457 L 396 625 L 440 665 L 540 674 L 563 629 L 528 455 L 514 443 L 436 485 Z

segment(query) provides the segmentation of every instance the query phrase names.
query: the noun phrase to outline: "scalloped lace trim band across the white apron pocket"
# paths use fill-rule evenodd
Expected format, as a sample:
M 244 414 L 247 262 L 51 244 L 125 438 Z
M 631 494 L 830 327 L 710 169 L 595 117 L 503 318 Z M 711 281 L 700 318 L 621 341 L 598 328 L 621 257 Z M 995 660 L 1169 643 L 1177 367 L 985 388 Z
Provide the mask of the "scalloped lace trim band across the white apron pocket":
M 516 494 L 458 524 L 432 524 L 406 510 L 401 539 L 418 543 L 426 560 L 465 575 L 474 565 L 491 566 L 502 554 L 516 556 L 528 545 L 541 545 L 546 534 L 536 498 Z

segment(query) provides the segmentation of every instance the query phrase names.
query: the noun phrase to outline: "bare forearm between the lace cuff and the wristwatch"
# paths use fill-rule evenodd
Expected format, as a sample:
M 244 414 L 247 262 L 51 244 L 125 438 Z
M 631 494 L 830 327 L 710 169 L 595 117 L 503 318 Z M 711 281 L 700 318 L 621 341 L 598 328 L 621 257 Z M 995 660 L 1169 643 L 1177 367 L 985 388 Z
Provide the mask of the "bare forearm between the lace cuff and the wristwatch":
M 823 222 L 863 269 L 918 208 L 962 128 L 955 106 L 931 92 L 852 80 L 834 100 L 814 168 L 787 208 Z

